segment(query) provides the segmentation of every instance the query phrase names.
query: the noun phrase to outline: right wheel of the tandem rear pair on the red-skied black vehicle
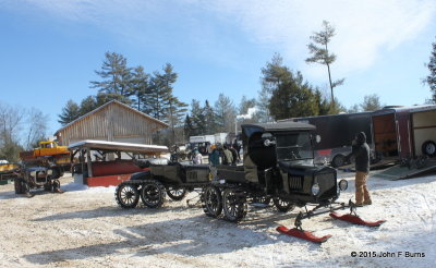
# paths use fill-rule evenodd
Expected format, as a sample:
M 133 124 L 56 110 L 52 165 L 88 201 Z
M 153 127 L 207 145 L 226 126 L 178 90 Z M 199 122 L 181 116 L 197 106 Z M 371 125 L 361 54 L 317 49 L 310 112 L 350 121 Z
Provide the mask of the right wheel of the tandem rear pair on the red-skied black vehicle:
M 228 221 L 238 222 L 246 215 L 245 196 L 242 191 L 226 188 L 222 192 L 222 208 Z

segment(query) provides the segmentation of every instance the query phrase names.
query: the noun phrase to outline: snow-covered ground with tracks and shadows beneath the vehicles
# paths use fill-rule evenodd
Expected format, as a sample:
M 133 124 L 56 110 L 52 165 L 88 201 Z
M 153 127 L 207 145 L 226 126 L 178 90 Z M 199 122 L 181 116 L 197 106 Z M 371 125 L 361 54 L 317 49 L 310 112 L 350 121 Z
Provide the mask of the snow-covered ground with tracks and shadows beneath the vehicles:
M 347 202 L 354 196 L 353 173 L 339 175 L 349 179 L 340 197 Z M 374 204 L 358 212 L 387 222 L 367 228 L 328 215 L 304 220 L 316 235 L 332 235 L 322 245 L 275 230 L 292 227 L 300 209 L 251 207 L 234 224 L 185 202 L 121 209 L 114 187 L 88 188 L 69 176 L 61 183 L 64 194 L 35 191 L 33 198 L 16 196 L 13 184 L 0 186 L 0 267 L 436 267 L 436 174 L 372 175 Z

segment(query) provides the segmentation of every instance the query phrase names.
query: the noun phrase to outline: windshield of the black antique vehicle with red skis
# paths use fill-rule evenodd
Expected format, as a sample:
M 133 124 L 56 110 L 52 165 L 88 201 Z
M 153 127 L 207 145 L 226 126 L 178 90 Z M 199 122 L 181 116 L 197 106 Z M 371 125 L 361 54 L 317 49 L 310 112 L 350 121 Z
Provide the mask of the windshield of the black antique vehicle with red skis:
M 301 160 L 312 159 L 313 150 L 308 133 L 276 134 L 277 159 Z

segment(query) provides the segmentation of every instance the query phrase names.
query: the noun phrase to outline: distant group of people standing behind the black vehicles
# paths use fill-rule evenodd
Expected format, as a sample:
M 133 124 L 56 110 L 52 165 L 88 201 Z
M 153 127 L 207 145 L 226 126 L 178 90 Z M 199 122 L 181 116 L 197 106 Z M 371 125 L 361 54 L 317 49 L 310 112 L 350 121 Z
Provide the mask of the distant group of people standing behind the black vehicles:
M 211 166 L 218 165 L 238 165 L 241 161 L 239 154 L 241 147 L 235 143 L 233 145 L 208 144 L 206 151 L 208 161 Z M 203 156 L 198 149 L 194 149 L 193 163 L 203 163 Z

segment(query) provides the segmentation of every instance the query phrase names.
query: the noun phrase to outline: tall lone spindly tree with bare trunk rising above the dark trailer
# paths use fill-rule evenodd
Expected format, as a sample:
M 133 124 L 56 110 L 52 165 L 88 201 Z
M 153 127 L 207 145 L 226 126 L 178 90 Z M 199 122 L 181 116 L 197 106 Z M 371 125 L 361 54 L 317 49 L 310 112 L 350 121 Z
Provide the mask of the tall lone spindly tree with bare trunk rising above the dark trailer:
M 344 81 L 343 78 L 335 82 L 331 81 L 330 65 L 335 62 L 336 54 L 329 52 L 328 44 L 334 36 L 335 28 L 328 22 L 323 21 L 323 29 L 318 33 L 314 33 L 314 35 L 310 37 L 315 44 L 319 46 L 316 46 L 313 42 L 308 44 L 307 48 L 312 57 L 306 59 L 306 62 L 308 63 L 315 62 L 327 66 L 332 105 L 335 105 L 334 88 L 342 85 Z

